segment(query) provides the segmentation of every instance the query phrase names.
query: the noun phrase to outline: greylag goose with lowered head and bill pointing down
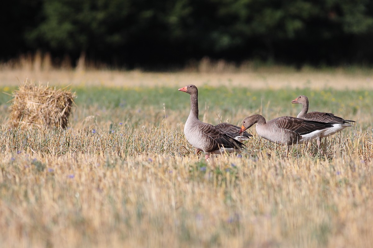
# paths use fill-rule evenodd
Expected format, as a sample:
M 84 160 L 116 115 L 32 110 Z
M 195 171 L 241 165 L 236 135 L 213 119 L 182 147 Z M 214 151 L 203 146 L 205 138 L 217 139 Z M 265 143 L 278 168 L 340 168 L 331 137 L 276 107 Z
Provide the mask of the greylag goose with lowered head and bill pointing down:
M 261 115 L 248 116 L 242 122 L 241 131 L 253 126 L 255 123 L 258 135 L 276 144 L 292 145 L 303 144 L 314 138 L 332 124 L 304 120 L 290 116 L 282 116 L 266 122 Z

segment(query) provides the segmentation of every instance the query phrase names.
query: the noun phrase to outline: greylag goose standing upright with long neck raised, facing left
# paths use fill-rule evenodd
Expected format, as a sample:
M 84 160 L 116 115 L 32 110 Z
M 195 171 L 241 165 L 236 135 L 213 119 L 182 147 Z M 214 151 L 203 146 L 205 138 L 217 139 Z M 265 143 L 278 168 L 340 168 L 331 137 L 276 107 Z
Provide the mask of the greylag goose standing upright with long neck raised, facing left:
M 223 154 L 225 152 L 240 151 L 245 147 L 238 140 L 227 135 L 215 126 L 201 122 L 198 119 L 198 89 L 193 84 L 188 84 L 179 91 L 190 94 L 190 113 L 184 126 L 186 140 L 205 153 L 206 159 L 210 154 Z

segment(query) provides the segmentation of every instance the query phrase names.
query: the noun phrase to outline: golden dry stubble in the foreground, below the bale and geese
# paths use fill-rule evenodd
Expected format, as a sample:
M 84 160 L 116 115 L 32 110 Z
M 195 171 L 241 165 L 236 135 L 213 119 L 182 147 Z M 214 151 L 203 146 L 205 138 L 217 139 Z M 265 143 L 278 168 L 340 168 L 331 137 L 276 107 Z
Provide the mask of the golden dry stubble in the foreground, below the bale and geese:
M 177 130 L 0 131 L 7 247 L 369 247 L 372 135 L 255 138 L 214 169 Z M 304 150 L 305 148 L 305 150 Z M 18 152 L 19 151 L 19 152 Z

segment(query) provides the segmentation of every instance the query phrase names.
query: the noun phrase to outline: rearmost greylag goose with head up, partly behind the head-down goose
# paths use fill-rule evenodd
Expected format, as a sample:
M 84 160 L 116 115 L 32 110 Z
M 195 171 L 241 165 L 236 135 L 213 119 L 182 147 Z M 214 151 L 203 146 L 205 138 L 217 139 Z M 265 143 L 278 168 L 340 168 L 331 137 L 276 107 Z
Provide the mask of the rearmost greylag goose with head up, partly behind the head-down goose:
M 320 133 L 320 136 L 317 138 L 317 146 L 320 147 L 321 139 L 330 135 L 335 134 L 343 130 L 348 126 L 352 126 L 350 122 L 355 122 L 353 120 L 345 120 L 341 117 L 335 116 L 332 113 L 324 113 L 324 112 L 308 112 L 308 97 L 301 95 L 291 101 L 291 103 L 300 103 L 302 104 L 302 110 L 298 114 L 297 118 L 305 119 L 305 120 L 315 120 L 318 122 L 327 122 L 332 124 L 331 128 L 326 129 L 325 132 Z

